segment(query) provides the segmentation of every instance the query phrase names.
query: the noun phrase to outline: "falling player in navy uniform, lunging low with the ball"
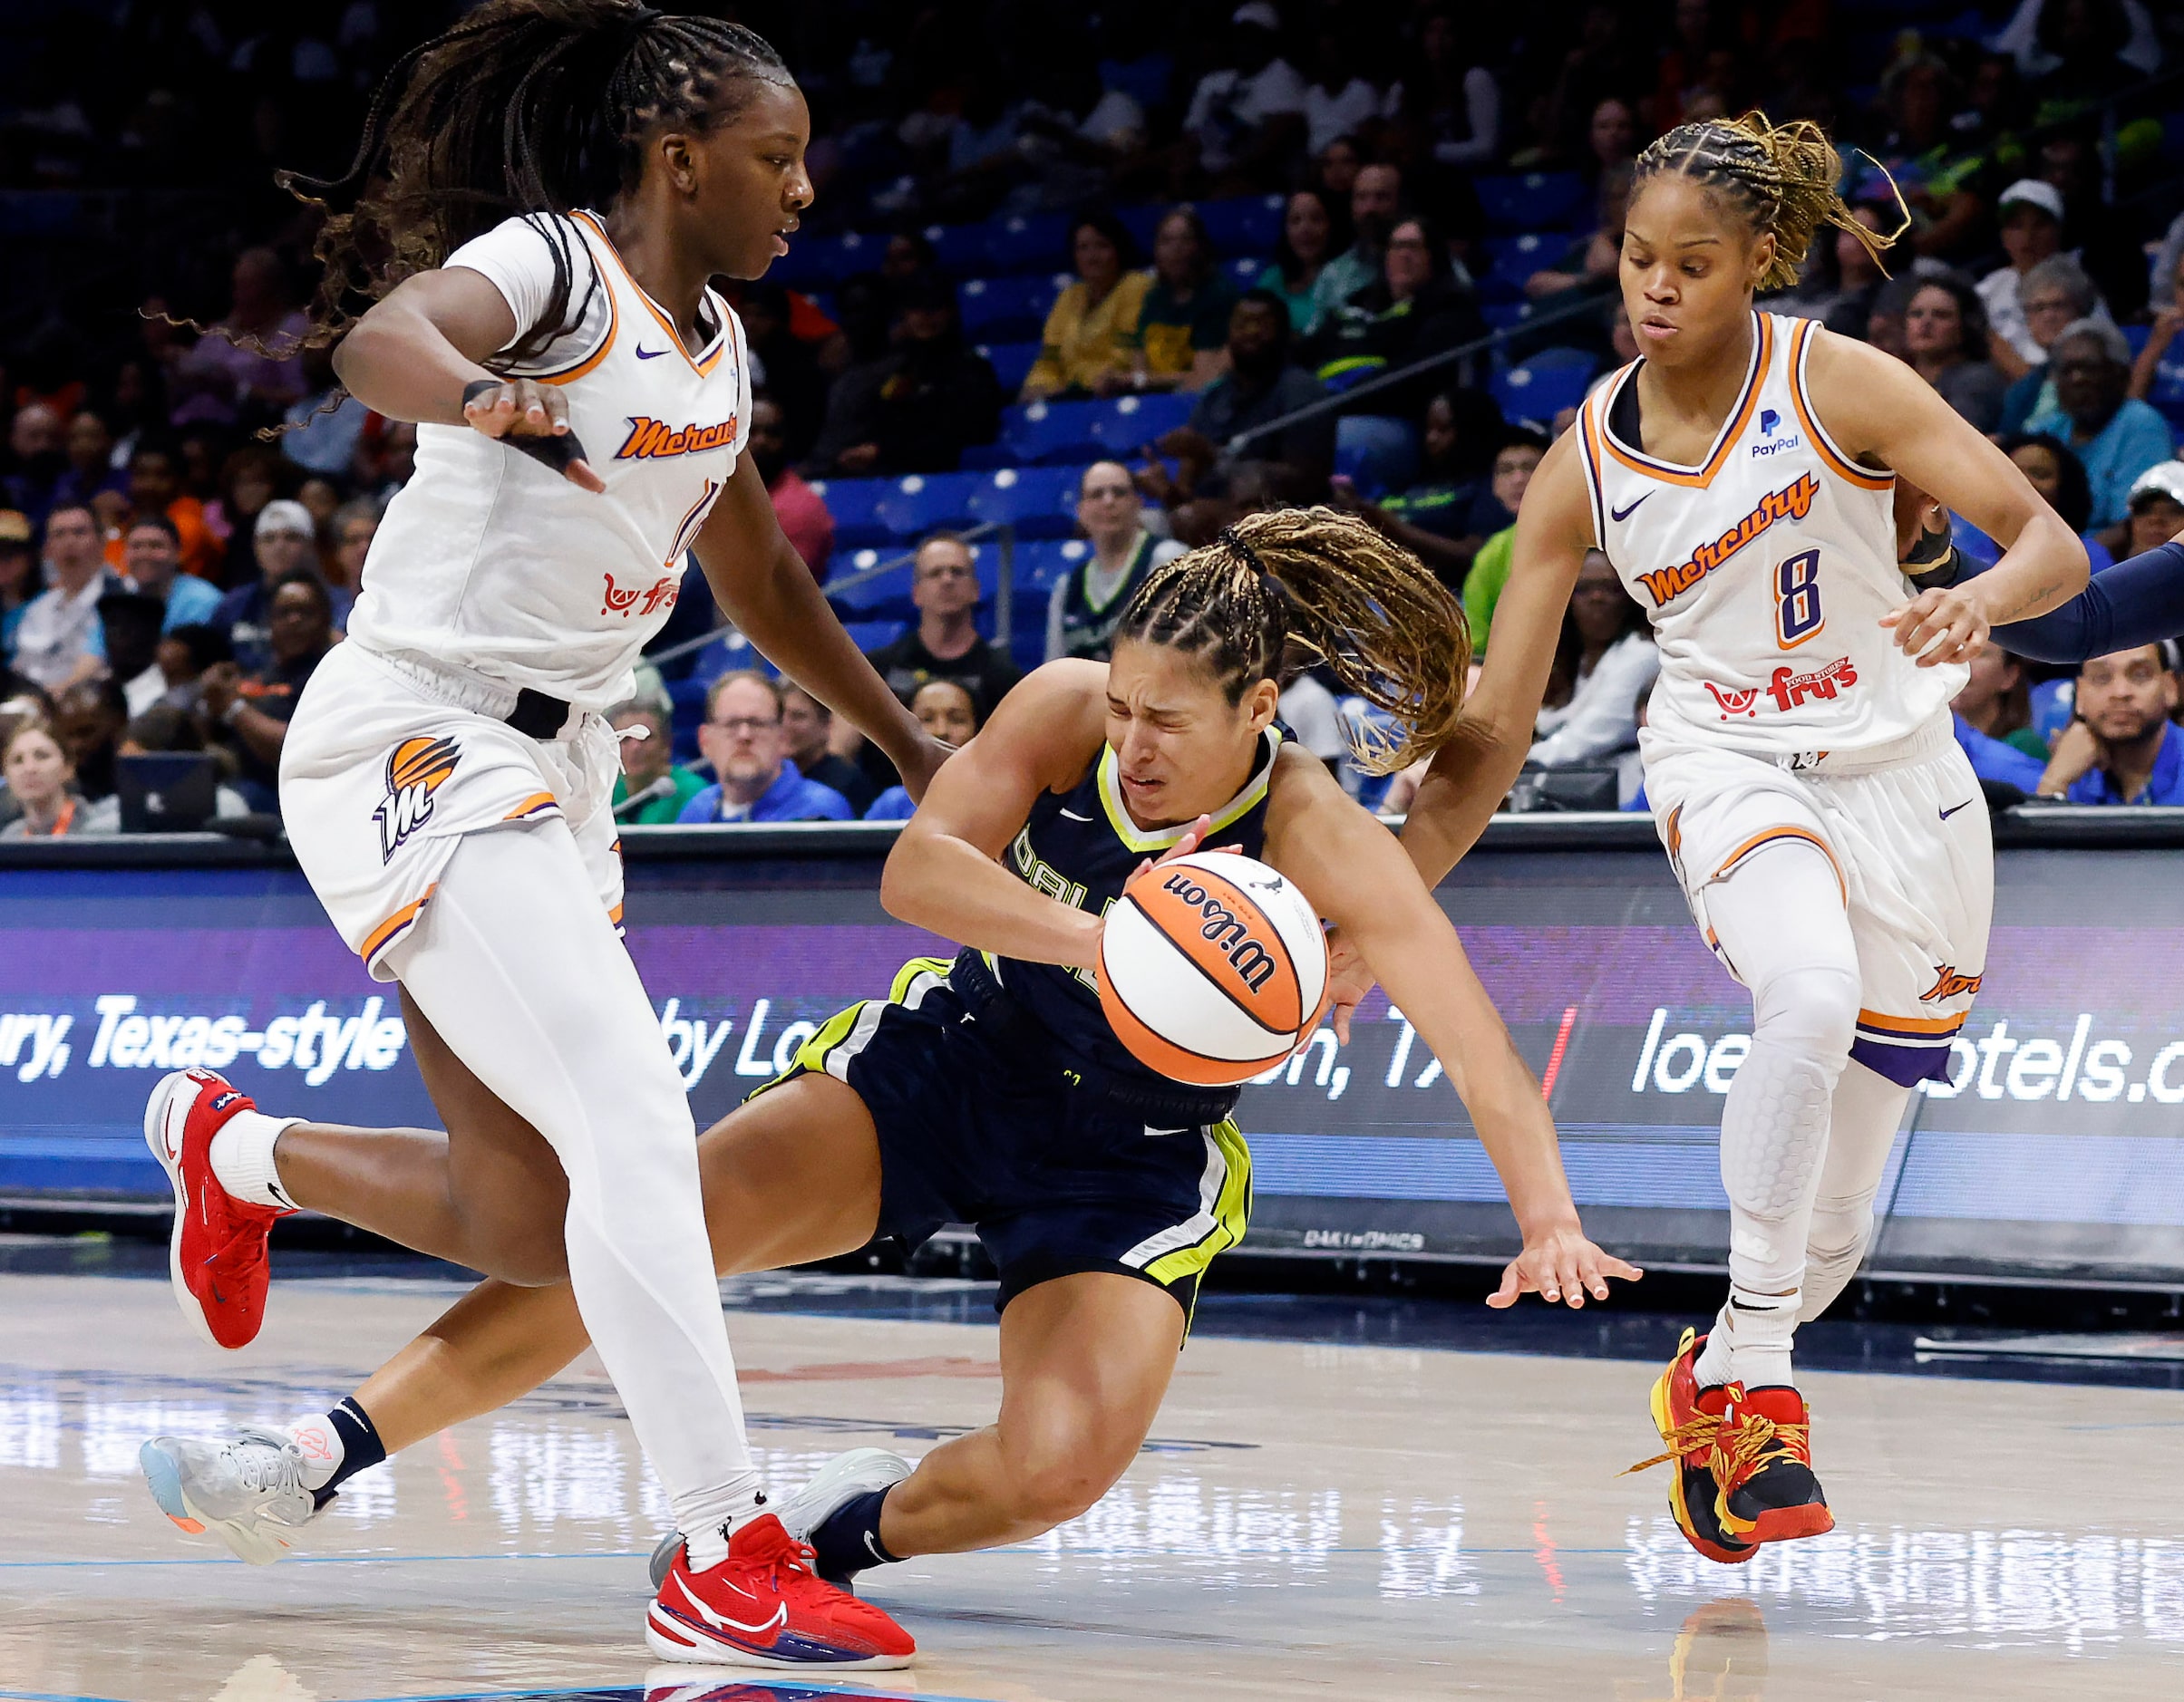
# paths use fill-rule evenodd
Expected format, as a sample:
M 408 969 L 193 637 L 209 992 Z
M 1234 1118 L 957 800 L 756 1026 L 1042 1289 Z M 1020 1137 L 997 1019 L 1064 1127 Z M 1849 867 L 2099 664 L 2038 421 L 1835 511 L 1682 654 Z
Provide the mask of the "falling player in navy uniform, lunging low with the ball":
M 891 997 L 834 1017 L 699 1137 L 723 1272 L 826 1259 L 874 1235 L 915 1244 L 943 1222 L 976 1224 L 1000 1268 L 998 1423 L 915 1471 L 845 1453 L 788 1497 L 782 1521 L 823 1575 L 1022 1543 L 1092 1506 L 1153 1423 L 1199 1276 L 1245 1233 L 1236 1091 L 1140 1065 L 1092 984 L 1105 908 L 1147 858 L 1234 847 L 1354 930 L 1509 1191 L 1524 1248 L 1498 1305 L 1529 1290 L 1583 1305 L 1610 1276 L 1638 1274 L 1583 1237 L 1540 1087 L 1448 916 L 1396 840 L 1273 724 L 1291 642 L 1398 722 L 1376 766 L 1455 727 L 1463 611 L 1413 556 L 1328 508 L 1238 522 L 1153 570 L 1112 663 L 1037 670 L 933 781 L 882 897 L 970 949 L 904 967 Z M 367 1163 L 424 1167 L 441 1185 L 446 1148 L 349 1139 L 363 1156 L 282 1143 L 282 1189 L 339 1200 Z M 518 1399 L 583 1342 L 568 1287 L 485 1283 L 343 1405 L 408 1447 Z M 293 1475 L 282 1482 L 277 1445 L 245 1434 L 194 1455 L 207 1479 L 234 1484 L 216 1486 L 221 1534 L 260 1558 L 312 1514 Z

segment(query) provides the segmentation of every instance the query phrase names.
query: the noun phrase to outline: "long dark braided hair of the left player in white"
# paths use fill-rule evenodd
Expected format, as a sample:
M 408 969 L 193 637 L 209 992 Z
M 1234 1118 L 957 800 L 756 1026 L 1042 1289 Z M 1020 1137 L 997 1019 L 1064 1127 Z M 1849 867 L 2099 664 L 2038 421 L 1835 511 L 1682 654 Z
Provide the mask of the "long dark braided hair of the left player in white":
M 511 216 L 555 257 L 546 310 L 496 367 L 535 360 L 583 323 L 572 236 L 553 218 L 636 190 L 660 124 L 729 122 L 753 83 L 793 87 L 782 57 L 743 24 L 653 11 L 638 0 L 489 0 L 406 52 L 371 98 L 349 170 L 280 172 L 325 207 L 325 268 L 306 347 L 341 338 L 373 301 Z

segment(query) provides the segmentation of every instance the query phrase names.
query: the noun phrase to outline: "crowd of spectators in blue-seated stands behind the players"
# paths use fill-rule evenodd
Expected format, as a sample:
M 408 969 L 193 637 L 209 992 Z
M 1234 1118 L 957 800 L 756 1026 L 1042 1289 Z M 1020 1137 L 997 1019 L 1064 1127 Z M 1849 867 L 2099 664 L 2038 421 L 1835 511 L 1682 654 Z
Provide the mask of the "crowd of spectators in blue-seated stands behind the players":
M 312 218 L 271 170 L 341 161 L 380 70 L 454 11 L 11 15 L 0 231 L 33 262 L 0 284 L 0 836 L 157 825 L 127 757 L 205 753 L 214 816 L 277 816 L 288 714 L 341 642 L 415 428 L 304 347 Z M 1022 670 L 1103 657 L 1153 567 L 1267 506 L 1365 515 L 1461 596 L 1487 650 L 1524 484 L 1636 353 L 1616 292 L 1631 161 L 1747 107 L 1821 120 L 1863 223 L 1894 231 L 1898 196 L 1909 212 L 1887 273 L 1824 240 L 1762 305 L 1907 360 L 2094 567 L 2184 528 L 2180 7 L 743 15 L 799 72 L 819 190 L 791 255 L 729 286 L 749 454 L 852 633 L 946 738 Z M 100 196 L 142 216 L 98 225 Z M 70 264 L 122 295 L 72 288 Z M 1957 543 L 1996 554 L 1963 522 Z M 906 814 L 878 753 L 714 622 L 688 576 L 614 711 L 625 820 Z M 1516 803 L 1636 803 L 1655 668 L 1638 604 L 1590 561 Z M 1974 670 L 1957 724 L 1981 775 L 2184 803 L 2177 657 L 2055 672 L 2007 652 Z M 1350 707 L 1310 674 L 1284 698 L 1345 783 L 1400 807 L 1409 779 L 1382 794 L 1348 772 Z

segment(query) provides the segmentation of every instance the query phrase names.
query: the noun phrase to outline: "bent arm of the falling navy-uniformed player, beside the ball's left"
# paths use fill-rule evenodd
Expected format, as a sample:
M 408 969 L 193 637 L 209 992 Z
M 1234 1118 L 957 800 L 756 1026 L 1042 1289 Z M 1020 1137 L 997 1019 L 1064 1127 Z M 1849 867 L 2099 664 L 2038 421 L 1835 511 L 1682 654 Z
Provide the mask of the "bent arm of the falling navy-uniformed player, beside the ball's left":
M 1105 742 L 1107 670 L 1051 661 L 933 777 L 880 875 L 887 914 L 978 951 L 1026 962 L 1099 964 L 1101 919 L 1051 899 L 1002 866 L 1040 792 L 1083 775 Z

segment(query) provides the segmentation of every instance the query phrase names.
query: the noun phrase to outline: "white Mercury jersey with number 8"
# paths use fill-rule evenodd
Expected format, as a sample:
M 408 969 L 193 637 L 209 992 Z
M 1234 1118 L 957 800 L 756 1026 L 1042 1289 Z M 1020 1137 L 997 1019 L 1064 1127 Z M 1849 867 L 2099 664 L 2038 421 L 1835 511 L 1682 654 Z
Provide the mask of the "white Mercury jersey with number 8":
M 1745 388 L 1704 467 L 1612 430 L 1642 362 L 1579 410 L 1594 535 L 1660 644 L 1647 748 L 1872 751 L 1946 714 L 1970 676 L 1915 668 L 1880 626 L 1913 596 L 1896 565 L 1896 476 L 1852 463 L 1819 423 L 1804 386 L 1815 332 L 1752 314 Z

